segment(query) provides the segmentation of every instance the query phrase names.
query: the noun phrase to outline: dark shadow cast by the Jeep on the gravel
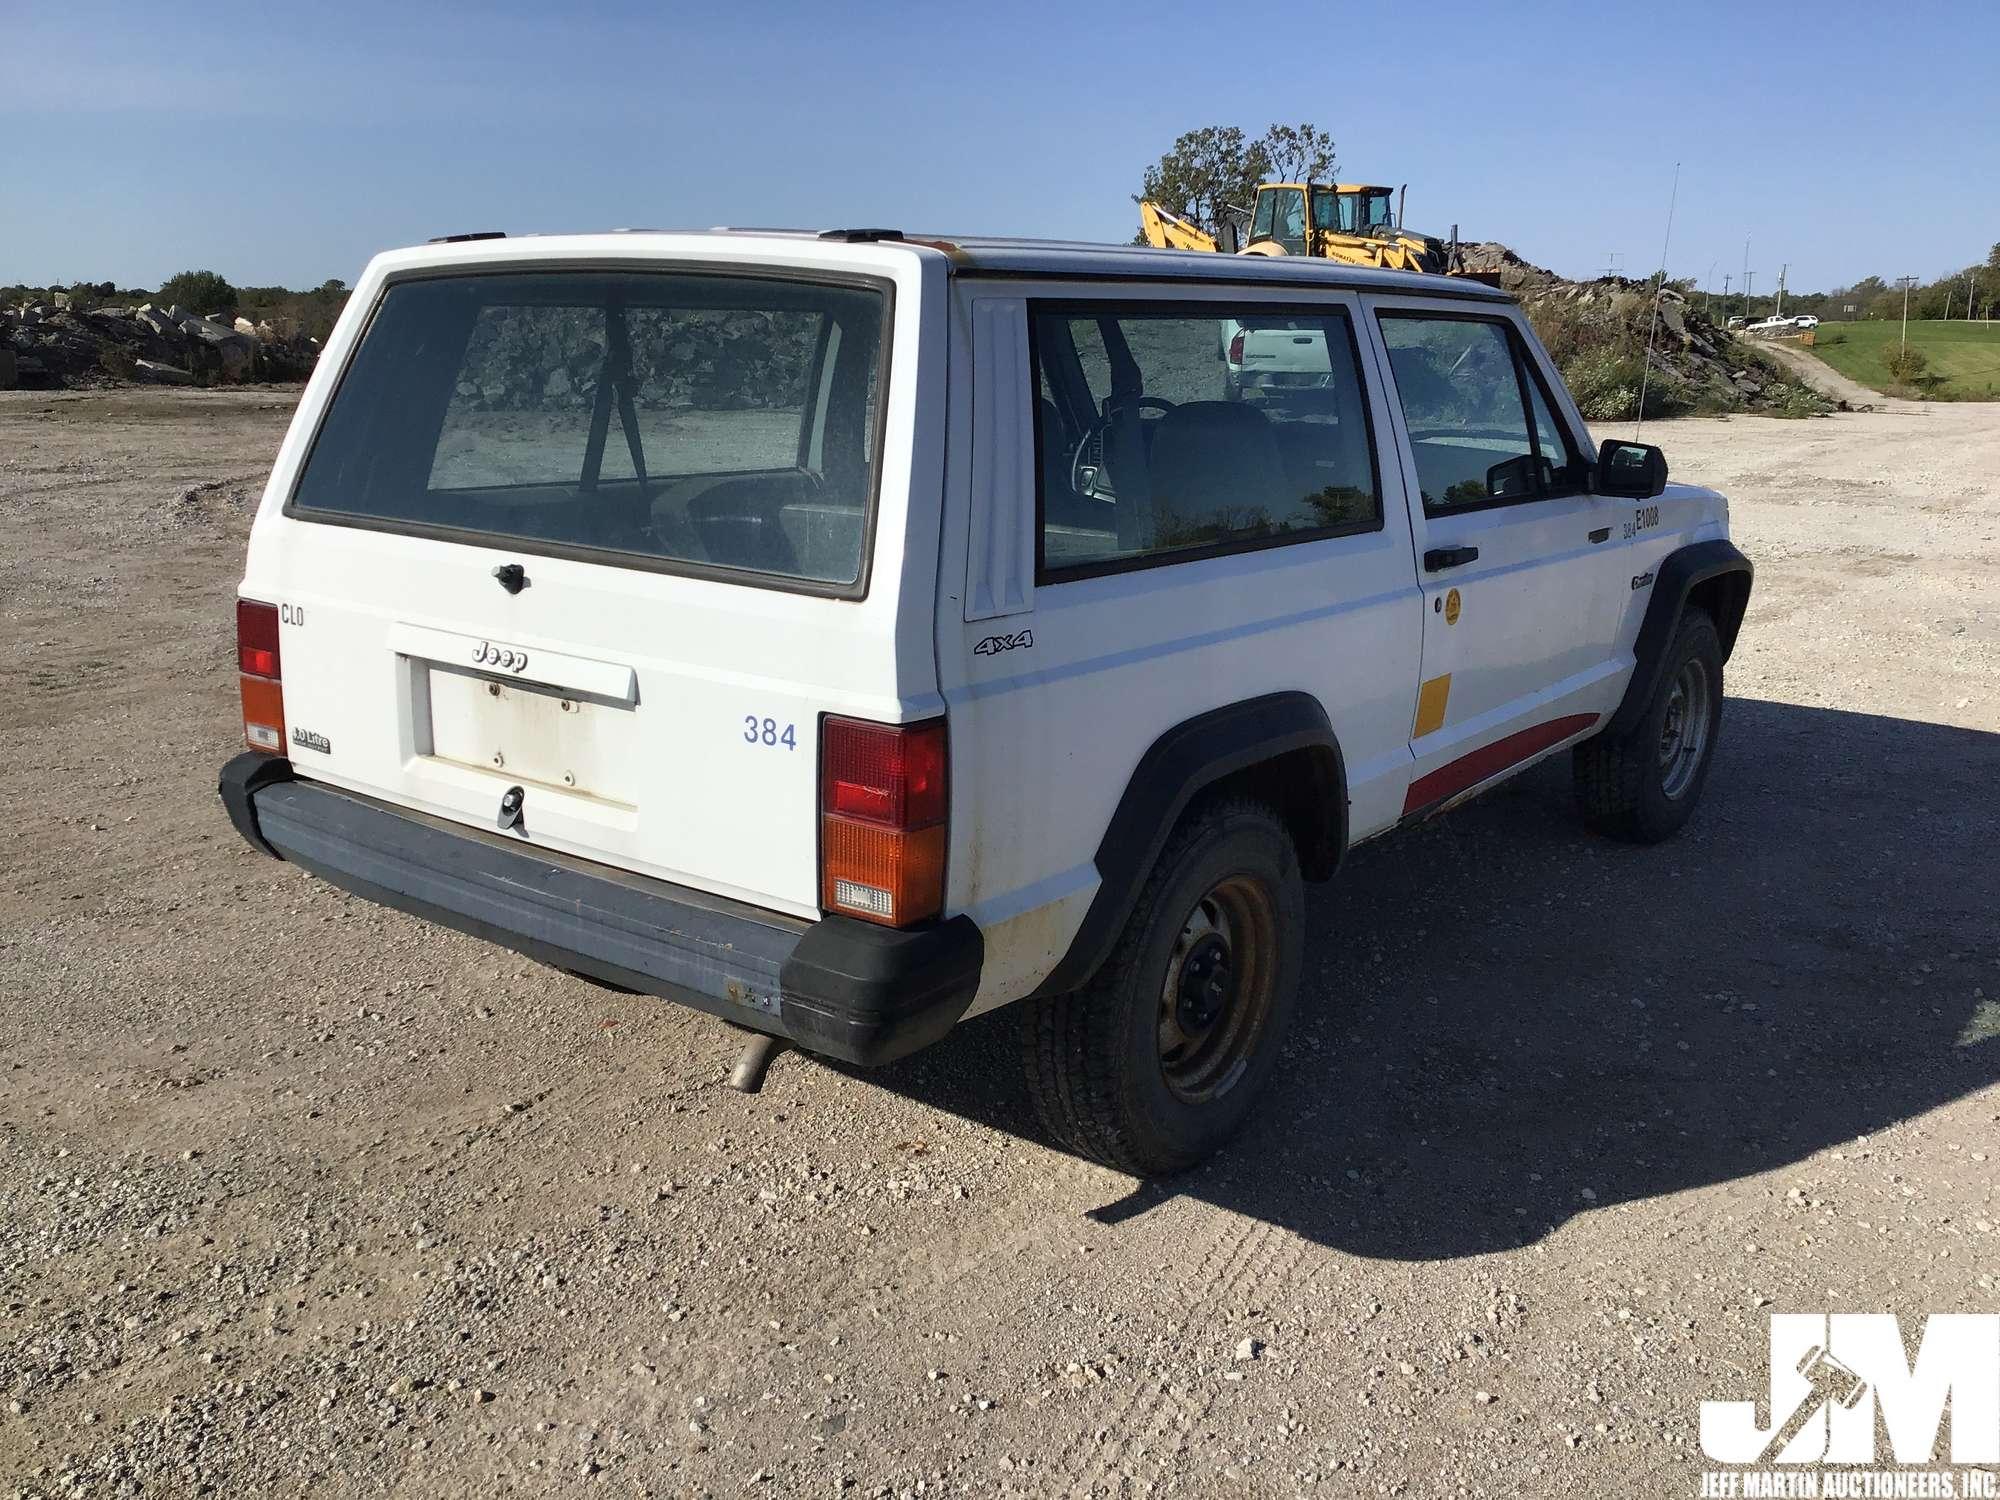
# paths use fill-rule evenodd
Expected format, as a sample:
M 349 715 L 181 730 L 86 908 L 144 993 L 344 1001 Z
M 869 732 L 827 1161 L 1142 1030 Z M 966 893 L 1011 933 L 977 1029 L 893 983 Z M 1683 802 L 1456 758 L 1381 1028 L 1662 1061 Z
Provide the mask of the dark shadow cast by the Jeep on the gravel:
M 1558 756 L 1316 888 L 1254 1124 L 1094 1216 L 1186 1194 L 1474 1256 L 1962 1098 L 2000 1080 L 1996 834 L 1978 730 L 1732 698 L 1702 810 L 1654 848 L 1586 834 Z M 1042 1140 L 1016 1036 L 1002 1010 L 866 1078 Z

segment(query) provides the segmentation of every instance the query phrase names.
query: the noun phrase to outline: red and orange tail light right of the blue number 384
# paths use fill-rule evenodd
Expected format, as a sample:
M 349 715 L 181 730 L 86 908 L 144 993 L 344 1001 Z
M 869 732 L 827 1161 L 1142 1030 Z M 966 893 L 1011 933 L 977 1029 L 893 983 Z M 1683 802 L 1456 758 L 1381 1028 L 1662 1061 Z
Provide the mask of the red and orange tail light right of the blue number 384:
M 944 720 L 820 728 L 820 906 L 906 928 L 944 910 Z

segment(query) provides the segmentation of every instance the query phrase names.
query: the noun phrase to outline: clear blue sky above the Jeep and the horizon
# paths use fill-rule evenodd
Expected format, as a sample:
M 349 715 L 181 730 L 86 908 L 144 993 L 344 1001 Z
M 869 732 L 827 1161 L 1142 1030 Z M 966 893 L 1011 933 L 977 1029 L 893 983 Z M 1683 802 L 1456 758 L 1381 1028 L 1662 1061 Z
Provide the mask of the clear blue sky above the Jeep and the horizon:
M 1182 130 L 1312 120 L 1410 224 L 1566 274 L 1934 276 L 2000 240 L 1952 4 L 0 0 L 0 282 L 352 280 L 454 230 L 1126 240 Z

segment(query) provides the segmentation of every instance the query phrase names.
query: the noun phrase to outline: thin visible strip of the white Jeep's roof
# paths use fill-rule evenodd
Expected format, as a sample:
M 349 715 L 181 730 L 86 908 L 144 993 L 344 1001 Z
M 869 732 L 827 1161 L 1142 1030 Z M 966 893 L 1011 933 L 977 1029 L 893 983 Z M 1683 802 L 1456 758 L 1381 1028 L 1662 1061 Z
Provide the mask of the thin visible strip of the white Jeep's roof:
M 1424 296 L 1464 296 L 1486 302 L 1510 302 L 1482 282 L 1462 276 L 1426 276 L 1408 270 L 1376 270 L 1306 256 L 1226 256 L 1202 250 L 1154 250 L 1134 244 L 1094 244 L 1084 240 L 1030 240 L 984 234 L 918 234 L 900 230 L 790 230 L 790 228 L 714 228 L 714 230 L 614 230 L 562 236 L 440 236 L 430 246 L 396 252 L 396 260 L 460 264 L 484 260 L 518 260 L 528 246 L 576 254 L 618 244 L 632 250 L 648 240 L 672 242 L 672 252 L 692 244 L 746 244 L 750 240 L 826 244 L 880 250 L 886 254 L 942 254 L 956 274 L 1020 276 L 1020 278 L 1090 278 L 1090 280 L 1158 280 L 1158 282 L 1232 282 L 1238 286 L 1300 286 L 1346 288 L 1358 292 L 1422 292 Z M 636 242 L 636 244 L 634 244 Z M 748 248 L 748 246 L 746 246 Z

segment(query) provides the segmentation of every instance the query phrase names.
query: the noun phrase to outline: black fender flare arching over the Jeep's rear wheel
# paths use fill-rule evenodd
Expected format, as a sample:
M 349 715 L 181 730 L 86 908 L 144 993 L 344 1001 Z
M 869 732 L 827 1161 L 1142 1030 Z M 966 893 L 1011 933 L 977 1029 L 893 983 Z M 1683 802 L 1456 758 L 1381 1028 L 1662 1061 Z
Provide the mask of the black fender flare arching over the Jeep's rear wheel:
M 1348 766 L 1320 700 L 1310 692 L 1272 692 L 1196 714 L 1154 740 L 1134 766 L 1094 856 L 1098 894 L 1068 952 L 1034 994 L 1066 994 L 1098 972 L 1168 834 L 1196 796 L 1296 750 L 1320 752 L 1308 764 L 1320 778 L 1312 800 L 1324 810 L 1312 836 L 1300 840 L 1300 866 L 1310 878 L 1330 878 L 1348 848 Z

